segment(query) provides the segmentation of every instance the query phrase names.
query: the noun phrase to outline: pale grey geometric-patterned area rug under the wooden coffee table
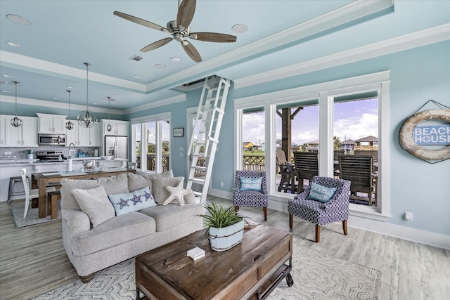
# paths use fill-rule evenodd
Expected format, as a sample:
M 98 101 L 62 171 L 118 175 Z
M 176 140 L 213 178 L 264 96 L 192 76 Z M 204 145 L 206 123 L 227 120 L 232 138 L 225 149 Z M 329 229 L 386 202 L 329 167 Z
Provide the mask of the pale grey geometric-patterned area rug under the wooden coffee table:
M 378 299 L 381 284 L 378 270 L 302 247 L 295 242 L 291 274 L 294 285 L 288 287 L 283 280 L 267 299 Z M 35 299 L 136 299 L 134 259 L 95 273 L 89 283 L 83 284 L 77 280 Z

